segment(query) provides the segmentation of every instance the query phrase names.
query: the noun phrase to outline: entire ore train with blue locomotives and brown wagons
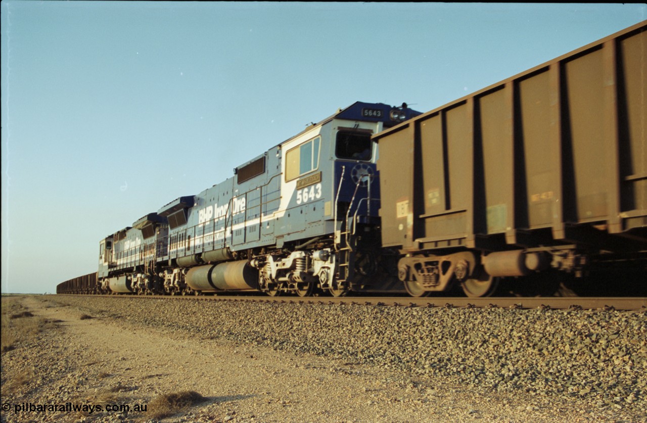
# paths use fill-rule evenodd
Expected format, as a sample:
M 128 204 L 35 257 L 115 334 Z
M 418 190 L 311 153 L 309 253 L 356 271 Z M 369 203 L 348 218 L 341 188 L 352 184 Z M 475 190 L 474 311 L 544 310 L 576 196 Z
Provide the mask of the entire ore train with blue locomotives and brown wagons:
M 478 297 L 601 269 L 644 294 L 646 62 L 644 21 L 424 114 L 356 102 L 105 237 L 56 292 Z

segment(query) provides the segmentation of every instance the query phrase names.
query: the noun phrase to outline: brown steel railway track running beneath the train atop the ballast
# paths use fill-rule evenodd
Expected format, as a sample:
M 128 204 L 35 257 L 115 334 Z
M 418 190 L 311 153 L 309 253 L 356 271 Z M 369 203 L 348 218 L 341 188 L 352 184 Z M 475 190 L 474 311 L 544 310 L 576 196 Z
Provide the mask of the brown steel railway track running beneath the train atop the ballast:
M 72 294 L 59 294 L 72 295 Z M 74 295 L 78 296 L 78 295 Z M 96 297 L 96 295 L 87 295 Z M 582 310 L 645 310 L 647 297 L 269 297 L 269 296 L 134 296 L 134 295 L 100 295 L 108 298 L 164 298 L 199 301 L 243 301 L 263 303 L 307 303 L 321 305 L 372 305 L 390 307 L 463 307 L 487 308 L 501 307 L 506 309 L 582 309 Z

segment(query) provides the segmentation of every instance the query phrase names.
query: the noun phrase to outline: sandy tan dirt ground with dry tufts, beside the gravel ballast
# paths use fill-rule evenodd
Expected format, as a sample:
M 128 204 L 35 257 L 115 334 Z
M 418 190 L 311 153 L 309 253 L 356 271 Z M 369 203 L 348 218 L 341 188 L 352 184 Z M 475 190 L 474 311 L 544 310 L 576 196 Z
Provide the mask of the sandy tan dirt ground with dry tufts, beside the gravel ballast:
M 40 318 L 49 325 L 3 351 L 2 422 L 590 420 L 586 410 L 553 406 L 548 398 L 470 390 L 443 380 L 422 384 L 388 369 L 325 356 L 181 331 L 144 331 L 88 316 L 54 297 L 14 301 L 33 314 L 23 319 Z M 204 400 L 184 408 L 160 401 L 183 391 Z M 164 407 L 168 417 L 161 417 Z

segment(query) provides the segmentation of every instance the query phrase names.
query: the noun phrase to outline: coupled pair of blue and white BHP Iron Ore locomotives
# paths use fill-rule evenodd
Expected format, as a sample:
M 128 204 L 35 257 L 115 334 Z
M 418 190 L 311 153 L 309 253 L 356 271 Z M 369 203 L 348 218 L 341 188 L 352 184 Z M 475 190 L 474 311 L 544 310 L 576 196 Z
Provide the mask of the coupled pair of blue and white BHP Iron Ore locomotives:
M 380 252 L 371 135 L 421 113 L 356 102 L 100 243 L 103 290 L 404 292 Z M 395 262 L 394 262 L 395 263 Z

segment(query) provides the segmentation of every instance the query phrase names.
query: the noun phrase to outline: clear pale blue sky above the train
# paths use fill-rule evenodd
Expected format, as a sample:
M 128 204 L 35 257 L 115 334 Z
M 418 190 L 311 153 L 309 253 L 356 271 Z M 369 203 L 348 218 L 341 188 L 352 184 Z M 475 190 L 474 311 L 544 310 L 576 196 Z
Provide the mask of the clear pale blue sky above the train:
M 640 4 L 1 3 L 2 291 L 355 101 L 419 111 L 647 19 Z

